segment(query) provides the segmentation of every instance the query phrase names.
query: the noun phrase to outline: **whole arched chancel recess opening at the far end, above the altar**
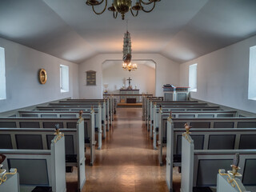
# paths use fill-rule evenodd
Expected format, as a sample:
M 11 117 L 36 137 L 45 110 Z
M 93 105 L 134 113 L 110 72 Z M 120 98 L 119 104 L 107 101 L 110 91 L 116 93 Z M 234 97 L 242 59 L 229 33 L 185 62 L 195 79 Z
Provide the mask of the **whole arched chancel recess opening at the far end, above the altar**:
M 140 94 L 155 95 L 155 68 L 153 60 L 133 60 L 136 70 L 122 69 L 122 60 L 106 60 L 102 63 L 102 93 L 119 94 L 120 89 L 139 90 Z

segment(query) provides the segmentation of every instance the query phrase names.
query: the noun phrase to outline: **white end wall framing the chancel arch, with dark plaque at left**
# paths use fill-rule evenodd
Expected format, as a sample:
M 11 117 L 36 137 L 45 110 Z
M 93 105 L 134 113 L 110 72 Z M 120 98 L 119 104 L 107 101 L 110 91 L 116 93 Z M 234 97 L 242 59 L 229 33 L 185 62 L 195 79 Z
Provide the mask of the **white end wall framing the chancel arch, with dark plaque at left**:
M 98 54 L 79 64 L 79 97 L 102 98 L 102 63 L 106 60 L 120 60 L 122 54 Z M 133 59 L 153 60 L 156 63 L 155 95 L 163 96 L 162 85 L 166 83 L 178 86 L 179 64 L 163 57 L 161 54 L 133 54 Z M 86 86 L 86 71 L 95 70 L 96 86 Z

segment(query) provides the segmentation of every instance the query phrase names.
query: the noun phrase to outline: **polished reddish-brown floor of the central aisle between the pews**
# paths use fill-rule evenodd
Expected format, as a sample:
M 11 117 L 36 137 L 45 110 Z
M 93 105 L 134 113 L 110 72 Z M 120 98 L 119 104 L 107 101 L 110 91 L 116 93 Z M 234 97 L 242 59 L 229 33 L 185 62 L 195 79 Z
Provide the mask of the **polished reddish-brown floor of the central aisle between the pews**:
M 166 192 L 166 166 L 158 165 L 158 151 L 142 121 L 141 108 L 118 108 L 102 150 L 96 151 L 94 166 L 86 152 L 84 192 Z M 87 150 L 88 151 L 88 150 Z M 67 191 L 77 188 L 77 171 L 67 174 Z M 179 191 L 180 174 L 174 170 L 174 188 Z

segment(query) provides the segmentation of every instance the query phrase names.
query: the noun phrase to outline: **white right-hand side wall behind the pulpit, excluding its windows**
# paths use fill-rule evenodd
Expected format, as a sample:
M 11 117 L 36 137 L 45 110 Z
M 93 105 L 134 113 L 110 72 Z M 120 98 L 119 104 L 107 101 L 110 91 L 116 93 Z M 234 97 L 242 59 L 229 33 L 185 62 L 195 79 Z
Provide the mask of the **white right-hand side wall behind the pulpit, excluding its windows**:
M 189 66 L 198 63 L 198 90 L 192 98 L 256 113 L 256 101 L 248 99 L 250 46 L 255 45 L 256 36 L 183 63 L 180 86 L 189 85 Z

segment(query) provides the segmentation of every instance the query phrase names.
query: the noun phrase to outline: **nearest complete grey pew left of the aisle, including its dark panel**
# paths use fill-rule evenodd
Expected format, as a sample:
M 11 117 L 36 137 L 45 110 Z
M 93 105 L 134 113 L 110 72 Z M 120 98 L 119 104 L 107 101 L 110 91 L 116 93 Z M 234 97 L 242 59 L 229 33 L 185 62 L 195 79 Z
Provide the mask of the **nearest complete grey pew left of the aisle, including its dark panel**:
M 0 150 L 0 154 L 6 155 L 4 167 L 18 170 L 22 190 L 44 186 L 54 192 L 66 191 L 65 138 L 61 134 L 55 136 L 50 150 Z

